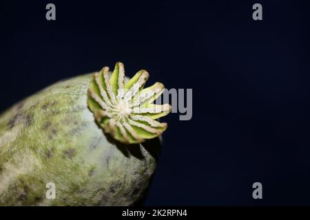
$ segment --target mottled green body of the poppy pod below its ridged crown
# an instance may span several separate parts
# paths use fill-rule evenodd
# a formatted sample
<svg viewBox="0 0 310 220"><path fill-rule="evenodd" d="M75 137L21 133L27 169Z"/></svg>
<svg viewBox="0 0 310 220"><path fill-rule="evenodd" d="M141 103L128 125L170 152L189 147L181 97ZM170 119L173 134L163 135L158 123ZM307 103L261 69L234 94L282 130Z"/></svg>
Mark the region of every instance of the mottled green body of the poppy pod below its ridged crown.
<svg viewBox="0 0 310 220"><path fill-rule="evenodd" d="M103 133L87 108L91 80L55 83L0 115L0 206L131 206L143 197L161 142L125 145Z"/></svg>

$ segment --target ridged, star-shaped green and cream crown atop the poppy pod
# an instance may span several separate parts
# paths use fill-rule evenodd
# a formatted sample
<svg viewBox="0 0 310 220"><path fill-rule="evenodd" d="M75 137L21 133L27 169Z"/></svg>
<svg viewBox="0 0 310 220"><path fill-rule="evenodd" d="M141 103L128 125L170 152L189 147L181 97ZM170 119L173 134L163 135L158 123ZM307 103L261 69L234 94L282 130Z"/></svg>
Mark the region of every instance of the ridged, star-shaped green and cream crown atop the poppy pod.
<svg viewBox="0 0 310 220"><path fill-rule="evenodd" d="M93 75L88 89L88 107L105 133L125 144L141 143L161 135L167 123L156 121L171 111L169 104L153 104L165 87L155 83L143 89L149 74L140 70L125 83L123 63Z"/></svg>

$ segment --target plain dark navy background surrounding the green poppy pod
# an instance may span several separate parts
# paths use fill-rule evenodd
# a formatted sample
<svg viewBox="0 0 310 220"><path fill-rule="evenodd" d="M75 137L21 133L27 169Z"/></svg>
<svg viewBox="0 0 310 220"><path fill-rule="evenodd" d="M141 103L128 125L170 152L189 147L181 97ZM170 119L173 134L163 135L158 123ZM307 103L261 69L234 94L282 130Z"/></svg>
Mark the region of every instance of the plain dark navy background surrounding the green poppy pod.
<svg viewBox="0 0 310 220"><path fill-rule="evenodd" d="M192 120L164 119L146 205L309 205L309 12L309 1L1 1L0 110L122 61L194 94Z"/></svg>

